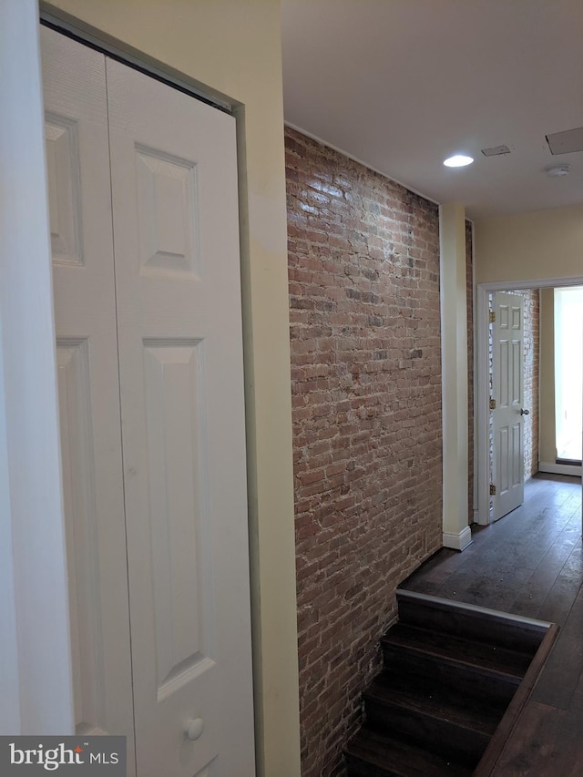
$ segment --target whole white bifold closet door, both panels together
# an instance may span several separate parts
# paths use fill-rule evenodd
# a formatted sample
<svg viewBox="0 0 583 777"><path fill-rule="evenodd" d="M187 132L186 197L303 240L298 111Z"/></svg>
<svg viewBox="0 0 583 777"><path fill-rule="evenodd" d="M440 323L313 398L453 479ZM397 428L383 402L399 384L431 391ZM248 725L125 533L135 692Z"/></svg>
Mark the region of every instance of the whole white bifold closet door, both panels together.
<svg viewBox="0 0 583 777"><path fill-rule="evenodd" d="M43 46L77 720L251 777L235 122Z"/></svg>

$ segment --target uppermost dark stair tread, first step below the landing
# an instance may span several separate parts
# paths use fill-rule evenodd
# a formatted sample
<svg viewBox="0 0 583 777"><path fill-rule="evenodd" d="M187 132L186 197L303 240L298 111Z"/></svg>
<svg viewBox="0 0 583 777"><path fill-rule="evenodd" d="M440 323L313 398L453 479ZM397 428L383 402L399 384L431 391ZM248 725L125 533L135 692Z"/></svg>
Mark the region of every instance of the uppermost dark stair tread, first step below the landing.
<svg viewBox="0 0 583 777"><path fill-rule="evenodd" d="M484 642L454 637L431 629L397 623L382 638L385 646L406 648L433 657L491 670L520 680L527 671L531 656L517 650L500 648Z"/></svg>

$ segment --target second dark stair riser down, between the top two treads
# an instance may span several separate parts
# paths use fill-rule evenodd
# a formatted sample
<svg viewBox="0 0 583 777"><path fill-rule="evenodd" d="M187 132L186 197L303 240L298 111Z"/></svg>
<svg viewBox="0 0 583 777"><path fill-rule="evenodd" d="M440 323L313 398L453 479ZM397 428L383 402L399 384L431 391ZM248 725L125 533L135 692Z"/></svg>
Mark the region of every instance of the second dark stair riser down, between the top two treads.
<svg viewBox="0 0 583 777"><path fill-rule="evenodd" d="M387 669L412 675L417 683L423 682L424 678L430 681L439 680L451 688L474 694L476 698L487 700L491 704L508 704L520 683L520 678L498 675L479 667L427 656L413 648L404 650L384 644L383 655Z"/></svg>

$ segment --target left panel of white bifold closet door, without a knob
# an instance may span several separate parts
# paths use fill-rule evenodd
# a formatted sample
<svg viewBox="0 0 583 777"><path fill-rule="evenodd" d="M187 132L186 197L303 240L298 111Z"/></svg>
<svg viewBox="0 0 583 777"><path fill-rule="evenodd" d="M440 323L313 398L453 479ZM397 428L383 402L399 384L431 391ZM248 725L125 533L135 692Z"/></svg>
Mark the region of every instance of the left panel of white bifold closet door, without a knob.
<svg viewBox="0 0 583 777"><path fill-rule="evenodd" d="M105 57L41 28L77 732L135 773Z"/></svg>

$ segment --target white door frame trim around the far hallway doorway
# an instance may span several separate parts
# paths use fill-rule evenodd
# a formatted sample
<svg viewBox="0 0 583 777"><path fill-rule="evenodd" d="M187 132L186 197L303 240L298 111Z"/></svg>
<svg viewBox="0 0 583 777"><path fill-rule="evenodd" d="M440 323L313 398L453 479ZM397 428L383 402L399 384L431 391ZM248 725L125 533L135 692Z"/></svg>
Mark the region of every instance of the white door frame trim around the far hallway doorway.
<svg viewBox="0 0 583 777"><path fill-rule="evenodd" d="M488 435L488 295L493 291L521 291L552 289L561 286L581 286L583 276L537 278L526 281L494 281L476 285L476 404L474 428L476 438L477 524L487 526L490 521L490 472Z"/></svg>

